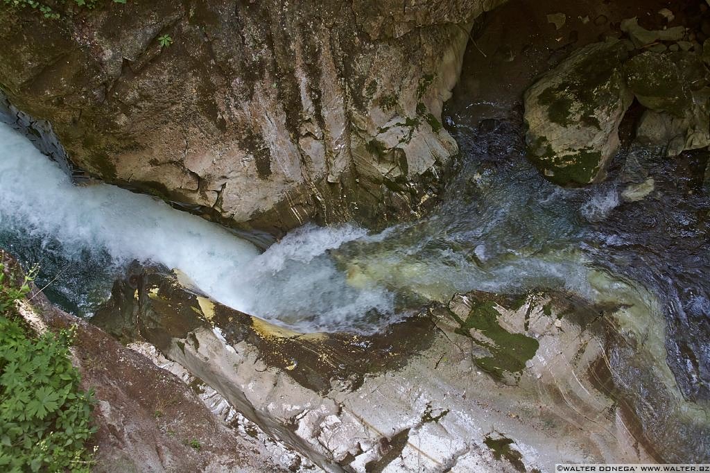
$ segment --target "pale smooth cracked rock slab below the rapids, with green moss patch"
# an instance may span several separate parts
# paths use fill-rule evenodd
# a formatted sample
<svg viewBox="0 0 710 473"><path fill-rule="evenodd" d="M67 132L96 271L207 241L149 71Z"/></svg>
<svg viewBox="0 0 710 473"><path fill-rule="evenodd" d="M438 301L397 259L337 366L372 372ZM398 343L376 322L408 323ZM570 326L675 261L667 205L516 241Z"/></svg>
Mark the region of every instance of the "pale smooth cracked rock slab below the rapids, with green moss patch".
<svg viewBox="0 0 710 473"><path fill-rule="evenodd" d="M329 472L643 463L688 458L674 451L691 445L679 439L704 435L700 424L673 420L677 400L652 370L639 374L662 342L647 337L647 353L620 335L626 307L606 312L562 293L469 293L379 335L300 334L206 304L173 276L116 284L95 322L154 344ZM652 399L634 394L649 386ZM648 402L669 414L650 419Z"/></svg>

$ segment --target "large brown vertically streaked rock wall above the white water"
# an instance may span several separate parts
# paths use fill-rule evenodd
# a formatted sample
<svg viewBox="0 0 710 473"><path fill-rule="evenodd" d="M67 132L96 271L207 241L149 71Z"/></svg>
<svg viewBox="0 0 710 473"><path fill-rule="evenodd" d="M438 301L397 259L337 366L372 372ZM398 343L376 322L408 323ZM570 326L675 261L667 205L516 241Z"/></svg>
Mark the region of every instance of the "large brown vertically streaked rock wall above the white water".
<svg viewBox="0 0 710 473"><path fill-rule="evenodd" d="M385 224L415 213L457 153L442 103L471 22L501 3L2 9L0 88L109 183L274 234Z"/></svg>

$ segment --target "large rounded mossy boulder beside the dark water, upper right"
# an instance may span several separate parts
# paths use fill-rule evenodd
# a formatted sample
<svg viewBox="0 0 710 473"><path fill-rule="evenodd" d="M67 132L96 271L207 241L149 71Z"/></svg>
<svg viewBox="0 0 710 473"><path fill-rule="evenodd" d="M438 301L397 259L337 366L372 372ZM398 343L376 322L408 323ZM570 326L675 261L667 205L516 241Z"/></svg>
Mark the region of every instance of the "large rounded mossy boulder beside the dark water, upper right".
<svg viewBox="0 0 710 473"><path fill-rule="evenodd" d="M548 180L583 185L604 177L633 99L621 69L627 56L621 41L587 45L525 92L528 156Z"/></svg>

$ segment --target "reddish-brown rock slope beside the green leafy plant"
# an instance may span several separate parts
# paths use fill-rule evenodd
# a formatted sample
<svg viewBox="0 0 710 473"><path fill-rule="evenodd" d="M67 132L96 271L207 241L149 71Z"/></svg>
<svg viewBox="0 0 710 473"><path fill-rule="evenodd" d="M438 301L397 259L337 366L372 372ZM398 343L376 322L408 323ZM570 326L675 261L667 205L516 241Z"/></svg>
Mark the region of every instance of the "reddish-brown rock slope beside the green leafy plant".
<svg viewBox="0 0 710 473"><path fill-rule="evenodd" d="M0 262L4 271L21 275L16 261L1 250ZM103 330L55 308L38 288L21 301L18 312L38 331L77 326L72 362L82 376L82 388L92 389L97 400L92 415L97 433L91 441L98 447L93 472L297 471L290 469L289 461L297 455L239 435L178 377Z"/></svg>

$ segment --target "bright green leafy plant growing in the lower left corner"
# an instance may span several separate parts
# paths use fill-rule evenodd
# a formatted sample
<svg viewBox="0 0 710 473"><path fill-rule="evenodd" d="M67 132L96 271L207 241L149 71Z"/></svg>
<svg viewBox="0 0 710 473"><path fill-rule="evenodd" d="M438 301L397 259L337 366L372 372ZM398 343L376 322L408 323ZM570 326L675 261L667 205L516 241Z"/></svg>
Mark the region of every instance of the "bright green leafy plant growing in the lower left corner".
<svg viewBox="0 0 710 473"><path fill-rule="evenodd" d="M70 359L77 327L35 335L21 323L33 276L16 286L0 263L0 471L88 472L94 401Z"/></svg>

